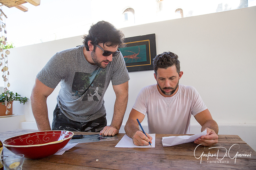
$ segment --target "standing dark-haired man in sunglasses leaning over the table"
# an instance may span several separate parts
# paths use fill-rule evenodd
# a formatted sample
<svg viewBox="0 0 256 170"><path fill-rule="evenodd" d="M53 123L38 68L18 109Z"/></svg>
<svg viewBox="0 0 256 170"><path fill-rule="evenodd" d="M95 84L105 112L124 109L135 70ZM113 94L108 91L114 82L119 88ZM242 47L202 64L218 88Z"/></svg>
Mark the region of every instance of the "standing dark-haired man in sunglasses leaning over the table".
<svg viewBox="0 0 256 170"><path fill-rule="evenodd" d="M99 21L83 38L82 46L56 53L37 74L31 94L33 115L40 131L51 130L46 99L61 82L52 130L114 136L122 125L128 101L130 78L118 49L124 46L124 34L112 24ZM116 102L107 126L103 97L110 80Z"/></svg>

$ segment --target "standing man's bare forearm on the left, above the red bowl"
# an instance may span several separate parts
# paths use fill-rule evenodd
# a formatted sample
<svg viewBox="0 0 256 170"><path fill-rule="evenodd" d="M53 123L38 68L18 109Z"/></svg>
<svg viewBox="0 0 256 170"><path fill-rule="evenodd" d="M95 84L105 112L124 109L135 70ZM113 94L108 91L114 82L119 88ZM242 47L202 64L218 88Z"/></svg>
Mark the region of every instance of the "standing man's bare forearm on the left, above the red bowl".
<svg viewBox="0 0 256 170"><path fill-rule="evenodd" d="M31 107L33 115L36 119L36 125L39 131L51 130L48 109L45 97L37 97L36 95L31 95Z"/></svg>

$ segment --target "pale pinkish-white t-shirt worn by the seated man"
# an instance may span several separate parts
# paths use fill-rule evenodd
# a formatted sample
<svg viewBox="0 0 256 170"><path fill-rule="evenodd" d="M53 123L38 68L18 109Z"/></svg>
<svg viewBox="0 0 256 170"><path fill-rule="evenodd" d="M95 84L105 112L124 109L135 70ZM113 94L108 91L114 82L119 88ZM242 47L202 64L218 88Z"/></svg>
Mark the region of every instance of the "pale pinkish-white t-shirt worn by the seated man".
<svg viewBox="0 0 256 170"><path fill-rule="evenodd" d="M156 84L146 86L132 108L148 114L148 133L156 134L189 134L191 114L207 109L196 89L182 84L172 97L162 96Z"/></svg>

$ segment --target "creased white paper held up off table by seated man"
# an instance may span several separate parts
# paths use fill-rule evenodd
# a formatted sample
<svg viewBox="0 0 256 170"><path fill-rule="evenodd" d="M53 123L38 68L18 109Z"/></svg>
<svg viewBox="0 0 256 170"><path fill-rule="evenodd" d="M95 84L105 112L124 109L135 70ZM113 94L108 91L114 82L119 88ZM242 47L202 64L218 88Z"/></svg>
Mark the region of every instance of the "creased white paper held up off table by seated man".
<svg viewBox="0 0 256 170"><path fill-rule="evenodd" d="M193 142L197 138L204 136L204 135L206 135L206 129L203 132L198 133L196 135L192 135L192 136L185 135L185 136L178 136L178 137L175 137L175 136L163 137L162 144L163 144L163 146L173 146L173 145L177 145L177 144L185 144L188 142Z"/></svg>

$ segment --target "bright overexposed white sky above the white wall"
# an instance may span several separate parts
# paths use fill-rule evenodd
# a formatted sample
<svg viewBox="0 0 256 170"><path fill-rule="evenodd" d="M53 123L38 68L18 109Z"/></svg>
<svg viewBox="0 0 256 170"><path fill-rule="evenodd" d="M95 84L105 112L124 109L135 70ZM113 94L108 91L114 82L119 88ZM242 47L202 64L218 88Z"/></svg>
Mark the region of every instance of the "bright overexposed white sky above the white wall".
<svg viewBox="0 0 256 170"><path fill-rule="evenodd" d="M23 4L23 6L28 8L27 12L23 12L15 7L8 8L2 6L0 8L8 17L5 19L7 42L12 42L15 47L21 47L87 34L92 23L96 23L98 19L102 20L100 18L116 22L117 19L115 18L117 16L115 16L114 12L118 11L122 14L122 10L124 9L120 8L123 8L122 5L124 6L124 4L127 7L133 6L137 8L136 14L138 16L138 11L142 11L141 6L143 5L141 4L143 4L144 1L145 0L129 0L129 2L127 0L41 0L41 4L38 6L29 3ZM198 11L198 9L205 10L207 8L205 7L205 1L193 1L198 1L198 4L201 5L204 3L204 7L200 8L198 8L198 4L197 6L195 5L196 11ZM209 4L234 3L235 1L239 4L240 0L211 0ZM153 3L152 0L148 2ZM163 1L165 4L172 2L192 6L191 0ZM156 3L155 0L154 3ZM136 7L134 4L138 4L139 7ZM248 6L255 5L256 0L248 0ZM214 10L215 8L216 7L214 7ZM165 13L162 14L166 16ZM161 15L158 15L156 18L160 18L160 16ZM140 22L149 23L150 17L148 21L146 19L145 15L143 15L140 17ZM136 18L136 20L138 21L139 19ZM151 20L153 20L152 16Z"/></svg>

